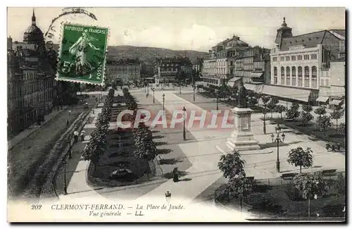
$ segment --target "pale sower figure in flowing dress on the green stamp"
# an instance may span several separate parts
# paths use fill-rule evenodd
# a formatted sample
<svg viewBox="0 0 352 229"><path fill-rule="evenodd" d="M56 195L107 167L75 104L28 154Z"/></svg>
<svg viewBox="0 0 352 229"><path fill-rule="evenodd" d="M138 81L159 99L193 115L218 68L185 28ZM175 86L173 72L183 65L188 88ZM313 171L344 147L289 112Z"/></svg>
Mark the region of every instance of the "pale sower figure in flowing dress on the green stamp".
<svg viewBox="0 0 352 229"><path fill-rule="evenodd" d="M70 54L75 56L76 72L79 75L84 75L84 73L93 69L93 66L87 60L88 48L91 47L94 50L100 50L92 44L93 41L96 41L96 39L89 36L88 30L84 30L82 37L78 38L77 42L69 49Z"/></svg>

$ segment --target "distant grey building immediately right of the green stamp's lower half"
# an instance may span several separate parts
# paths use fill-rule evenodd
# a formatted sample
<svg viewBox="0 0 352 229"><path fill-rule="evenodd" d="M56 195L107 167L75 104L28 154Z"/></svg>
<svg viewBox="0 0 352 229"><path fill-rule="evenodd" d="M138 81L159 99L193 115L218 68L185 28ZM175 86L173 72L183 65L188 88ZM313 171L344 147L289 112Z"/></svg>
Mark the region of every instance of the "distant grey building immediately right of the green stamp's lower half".
<svg viewBox="0 0 352 229"><path fill-rule="evenodd" d="M138 60L106 61L106 83L122 84L141 82L141 63Z"/></svg>

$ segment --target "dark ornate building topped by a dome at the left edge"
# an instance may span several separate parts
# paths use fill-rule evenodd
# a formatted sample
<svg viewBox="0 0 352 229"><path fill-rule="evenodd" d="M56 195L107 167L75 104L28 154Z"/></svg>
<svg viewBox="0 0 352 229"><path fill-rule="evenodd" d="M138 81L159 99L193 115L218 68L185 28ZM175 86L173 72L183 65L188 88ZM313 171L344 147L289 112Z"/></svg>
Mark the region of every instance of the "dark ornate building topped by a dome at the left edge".
<svg viewBox="0 0 352 229"><path fill-rule="evenodd" d="M50 113L56 96L54 69L49 65L42 30L32 15L23 42L8 38L8 136Z"/></svg>

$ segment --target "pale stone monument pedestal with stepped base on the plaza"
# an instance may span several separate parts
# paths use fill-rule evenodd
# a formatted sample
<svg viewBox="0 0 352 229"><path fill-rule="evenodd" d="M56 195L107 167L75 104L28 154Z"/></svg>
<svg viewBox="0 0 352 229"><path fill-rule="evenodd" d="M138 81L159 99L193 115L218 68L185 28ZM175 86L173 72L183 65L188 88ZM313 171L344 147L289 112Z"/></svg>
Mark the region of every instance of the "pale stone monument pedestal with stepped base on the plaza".
<svg viewBox="0 0 352 229"><path fill-rule="evenodd" d="M234 113L234 131L227 139L227 147L231 150L247 151L260 149L258 141L254 139L251 130L251 113L249 108L235 107L231 109Z"/></svg>

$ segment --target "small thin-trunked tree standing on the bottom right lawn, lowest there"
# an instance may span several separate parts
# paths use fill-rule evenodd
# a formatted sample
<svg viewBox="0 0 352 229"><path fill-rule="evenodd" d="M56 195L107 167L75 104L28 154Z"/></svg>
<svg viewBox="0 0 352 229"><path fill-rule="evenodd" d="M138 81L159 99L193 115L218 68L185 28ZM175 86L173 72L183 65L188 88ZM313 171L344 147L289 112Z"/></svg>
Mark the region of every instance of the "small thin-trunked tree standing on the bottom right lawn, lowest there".
<svg viewBox="0 0 352 229"><path fill-rule="evenodd" d="M326 182L321 172L299 173L294 176L295 187L308 200L308 217L310 217L310 199L317 199L326 193Z"/></svg>

